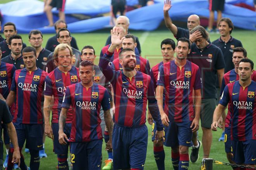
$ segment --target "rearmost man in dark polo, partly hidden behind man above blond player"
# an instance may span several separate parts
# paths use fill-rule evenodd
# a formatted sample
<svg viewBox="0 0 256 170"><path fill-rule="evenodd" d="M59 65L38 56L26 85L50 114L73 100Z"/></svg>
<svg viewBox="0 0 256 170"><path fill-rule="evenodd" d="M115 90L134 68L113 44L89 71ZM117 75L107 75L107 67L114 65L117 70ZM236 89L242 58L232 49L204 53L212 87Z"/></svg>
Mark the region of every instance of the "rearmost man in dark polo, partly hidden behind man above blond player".
<svg viewBox="0 0 256 170"><path fill-rule="evenodd" d="M46 43L45 49L48 49L49 51L53 52L55 47L59 45L60 43L57 41L57 34L60 29L67 28L67 23L64 20L57 20L54 24L54 28L56 31L56 35L53 37L50 37ZM78 49L78 46L76 44L76 39L72 37L72 40L70 42L71 47Z"/></svg>

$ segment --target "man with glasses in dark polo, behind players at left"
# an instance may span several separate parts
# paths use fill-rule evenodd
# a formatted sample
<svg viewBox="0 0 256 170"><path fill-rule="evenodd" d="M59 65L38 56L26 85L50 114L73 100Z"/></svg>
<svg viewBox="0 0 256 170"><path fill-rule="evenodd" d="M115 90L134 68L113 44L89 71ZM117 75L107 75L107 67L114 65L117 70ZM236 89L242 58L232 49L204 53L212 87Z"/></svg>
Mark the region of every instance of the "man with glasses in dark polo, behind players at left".
<svg viewBox="0 0 256 170"><path fill-rule="evenodd" d="M36 49L36 67L45 71L48 55L51 53L49 50L42 47L43 34L39 30L32 30L28 34L28 41L30 45Z"/></svg>

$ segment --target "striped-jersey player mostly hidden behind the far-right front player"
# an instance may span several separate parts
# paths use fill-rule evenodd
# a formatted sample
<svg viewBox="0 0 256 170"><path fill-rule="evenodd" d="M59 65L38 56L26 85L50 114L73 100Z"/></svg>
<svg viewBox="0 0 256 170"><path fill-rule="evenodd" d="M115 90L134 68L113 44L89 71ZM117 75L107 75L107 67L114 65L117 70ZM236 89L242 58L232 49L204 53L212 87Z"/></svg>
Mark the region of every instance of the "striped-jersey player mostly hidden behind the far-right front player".
<svg viewBox="0 0 256 170"><path fill-rule="evenodd" d="M246 49L242 48L242 47L236 47L233 48L233 57L232 57L232 61L234 63L235 68L233 70L228 71L227 73L225 73L225 75L223 76L222 79L222 85L221 85L221 93L223 93L223 90L225 88L225 86L229 83L233 83L236 80L239 80L239 75L238 75L238 66L239 66L239 62L241 61L241 59L247 58L247 51ZM253 81L256 81L256 71L253 71L253 74L251 76L251 79ZM228 107L230 107L230 105L228 104ZM220 117L220 122L221 122L221 118ZM225 142L225 151L227 153L227 159L230 163L235 163L234 161L232 161L232 151L231 151L231 136L230 136L230 118L231 118L231 112L230 110L228 110L226 119L225 119L225 137L224 137L224 142ZM223 124L223 123L222 123Z"/></svg>

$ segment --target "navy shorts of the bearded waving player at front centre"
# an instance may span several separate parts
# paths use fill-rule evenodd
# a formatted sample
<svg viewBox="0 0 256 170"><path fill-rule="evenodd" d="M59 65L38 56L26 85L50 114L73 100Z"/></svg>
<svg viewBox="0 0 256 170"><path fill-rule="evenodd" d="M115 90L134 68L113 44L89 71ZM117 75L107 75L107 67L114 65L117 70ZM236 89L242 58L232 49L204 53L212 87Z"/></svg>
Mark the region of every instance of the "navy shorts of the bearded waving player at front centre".
<svg viewBox="0 0 256 170"><path fill-rule="evenodd" d="M147 155L147 126L129 128L114 124L112 134L114 169L143 170Z"/></svg>

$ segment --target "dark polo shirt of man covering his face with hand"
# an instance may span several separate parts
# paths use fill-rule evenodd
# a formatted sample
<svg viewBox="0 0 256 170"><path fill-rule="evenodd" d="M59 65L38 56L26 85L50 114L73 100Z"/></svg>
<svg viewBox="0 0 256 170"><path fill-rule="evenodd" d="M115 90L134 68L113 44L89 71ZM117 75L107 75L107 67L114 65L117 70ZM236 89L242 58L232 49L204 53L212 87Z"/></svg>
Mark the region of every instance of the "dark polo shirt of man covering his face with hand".
<svg viewBox="0 0 256 170"><path fill-rule="evenodd" d="M191 45L188 60L199 66L202 77L202 98L211 99L216 96L217 70L225 68L225 61L220 48L209 42L203 50Z"/></svg>

